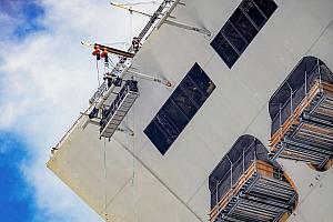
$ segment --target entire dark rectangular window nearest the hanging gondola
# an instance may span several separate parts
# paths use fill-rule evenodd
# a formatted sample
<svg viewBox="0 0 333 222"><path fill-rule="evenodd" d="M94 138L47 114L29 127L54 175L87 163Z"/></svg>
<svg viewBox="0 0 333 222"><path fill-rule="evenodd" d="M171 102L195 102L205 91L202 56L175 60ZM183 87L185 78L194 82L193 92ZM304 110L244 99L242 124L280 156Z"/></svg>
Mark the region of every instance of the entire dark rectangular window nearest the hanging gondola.
<svg viewBox="0 0 333 222"><path fill-rule="evenodd" d="M195 63L144 130L161 154L168 151L214 89L215 84Z"/></svg>

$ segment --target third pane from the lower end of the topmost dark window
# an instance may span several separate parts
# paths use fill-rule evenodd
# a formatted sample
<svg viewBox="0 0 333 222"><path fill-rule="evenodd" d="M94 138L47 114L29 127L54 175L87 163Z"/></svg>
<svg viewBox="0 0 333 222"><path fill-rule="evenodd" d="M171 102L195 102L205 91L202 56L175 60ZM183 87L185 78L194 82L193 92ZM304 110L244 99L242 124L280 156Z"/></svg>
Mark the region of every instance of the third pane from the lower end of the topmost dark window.
<svg viewBox="0 0 333 222"><path fill-rule="evenodd" d="M255 27L245 17L241 9L235 10L235 12L231 16L230 21L232 21L232 23L242 33L248 42L251 42L258 33Z"/></svg>

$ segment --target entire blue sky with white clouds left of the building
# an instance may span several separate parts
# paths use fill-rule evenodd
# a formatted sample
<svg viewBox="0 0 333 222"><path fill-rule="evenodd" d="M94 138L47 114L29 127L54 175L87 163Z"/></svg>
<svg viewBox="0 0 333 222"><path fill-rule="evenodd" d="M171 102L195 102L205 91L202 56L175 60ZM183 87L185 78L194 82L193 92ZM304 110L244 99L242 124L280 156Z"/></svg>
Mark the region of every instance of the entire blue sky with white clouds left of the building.
<svg viewBox="0 0 333 222"><path fill-rule="evenodd" d="M98 85L80 41L130 43L147 21L131 17L109 0L0 0L0 222L101 221L46 162Z"/></svg>

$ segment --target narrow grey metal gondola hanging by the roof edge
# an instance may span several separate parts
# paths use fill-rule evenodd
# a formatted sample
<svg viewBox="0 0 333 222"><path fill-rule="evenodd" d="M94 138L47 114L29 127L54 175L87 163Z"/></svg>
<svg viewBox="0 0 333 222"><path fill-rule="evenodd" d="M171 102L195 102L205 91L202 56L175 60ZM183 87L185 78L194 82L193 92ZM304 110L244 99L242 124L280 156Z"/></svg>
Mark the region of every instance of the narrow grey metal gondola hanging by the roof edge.
<svg viewBox="0 0 333 222"><path fill-rule="evenodd" d="M127 80L111 105L103 110L100 137L111 138L139 97L138 81Z"/></svg>

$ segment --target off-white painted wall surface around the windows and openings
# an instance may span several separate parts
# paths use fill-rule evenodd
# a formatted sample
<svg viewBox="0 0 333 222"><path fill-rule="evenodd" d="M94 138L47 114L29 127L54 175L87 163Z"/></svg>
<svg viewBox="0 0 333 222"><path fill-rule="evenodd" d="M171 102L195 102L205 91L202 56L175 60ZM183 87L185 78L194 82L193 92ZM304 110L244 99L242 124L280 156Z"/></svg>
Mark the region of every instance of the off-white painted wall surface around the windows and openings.
<svg viewBox="0 0 333 222"><path fill-rule="evenodd" d="M184 2L185 7L178 6L172 13L176 20L216 33L241 1ZM117 132L110 142L105 141L107 182L104 141L99 140L94 125L82 131L79 123L48 167L101 215L107 185L111 221L208 221L210 172L244 133L268 145L268 101L293 67L310 54L333 70L333 1L276 3L275 13L231 70L210 47L212 38L168 24L150 36L133 60L140 72L157 73L178 85L198 62L216 84L165 155L159 153L143 130L172 90L141 81L140 98L124 121L135 138ZM320 173L303 163L280 162L300 192L300 205L289 221L333 221L333 170Z"/></svg>

